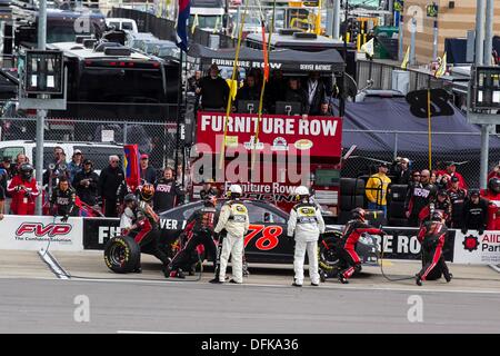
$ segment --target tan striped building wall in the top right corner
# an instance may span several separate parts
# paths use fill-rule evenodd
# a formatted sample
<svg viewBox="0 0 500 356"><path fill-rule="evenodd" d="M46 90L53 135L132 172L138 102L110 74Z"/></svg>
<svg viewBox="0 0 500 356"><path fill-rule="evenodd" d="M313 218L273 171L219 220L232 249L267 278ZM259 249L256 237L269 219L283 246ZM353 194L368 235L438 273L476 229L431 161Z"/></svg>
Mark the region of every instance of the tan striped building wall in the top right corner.
<svg viewBox="0 0 500 356"><path fill-rule="evenodd" d="M436 2L439 6L438 18L427 17L427 6ZM416 36L416 53L418 63L429 63L432 60L432 41L434 20L438 21L438 56L444 51L444 39L466 38L468 30L476 28L477 0L454 0L454 9L449 9L449 0L406 0L404 1L404 50L410 46L411 33L409 24L412 14L422 17L421 27ZM418 16L417 16L418 18ZM500 36L500 1L494 0L493 31Z"/></svg>

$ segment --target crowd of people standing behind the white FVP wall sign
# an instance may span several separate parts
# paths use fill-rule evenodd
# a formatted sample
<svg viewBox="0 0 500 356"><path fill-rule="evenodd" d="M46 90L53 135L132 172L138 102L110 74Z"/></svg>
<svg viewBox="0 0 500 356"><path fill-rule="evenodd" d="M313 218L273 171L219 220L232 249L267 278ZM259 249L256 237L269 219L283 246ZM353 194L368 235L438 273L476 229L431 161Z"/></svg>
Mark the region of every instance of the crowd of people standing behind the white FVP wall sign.
<svg viewBox="0 0 500 356"><path fill-rule="evenodd" d="M179 165L180 166L180 165ZM182 170L182 167L178 167ZM184 201L182 175L174 179L172 167L156 169L149 164L148 155L140 156L141 185L151 185L154 189L154 210L171 209ZM109 157L109 165L94 171L93 161L74 150L71 160L66 160L61 147L53 149L53 158L46 167L43 187L39 189L33 177L33 167L27 157L18 155L12 164L9 157L0 165L0 218L4 212L12 215L34 215L34 201L39 194L47 197L46 214L63 218L81 216L82 209L101 211L106 217L118 217L122 211L123 198L129 192L126 176L118 156ZM10 199L9 211L4 211L4 201ZM84 216L84 215L83 215Z"/></svg>

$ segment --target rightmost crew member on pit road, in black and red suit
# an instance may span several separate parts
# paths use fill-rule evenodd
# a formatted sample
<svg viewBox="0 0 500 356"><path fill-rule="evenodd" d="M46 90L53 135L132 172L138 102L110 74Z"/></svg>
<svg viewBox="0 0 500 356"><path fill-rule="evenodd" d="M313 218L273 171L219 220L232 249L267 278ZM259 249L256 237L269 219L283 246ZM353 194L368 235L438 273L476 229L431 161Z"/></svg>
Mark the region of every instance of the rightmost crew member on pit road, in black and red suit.
<svg viewBox="0 0 500 356"><path fill-rule="evenodd" d="M442 256L444 239L448 235L447 226L441 221L426 221L420 228L418 239L422 245L423 267L417 274L420 279L426 280L434 267L440 268L447 280L450 271Z"/></svg>

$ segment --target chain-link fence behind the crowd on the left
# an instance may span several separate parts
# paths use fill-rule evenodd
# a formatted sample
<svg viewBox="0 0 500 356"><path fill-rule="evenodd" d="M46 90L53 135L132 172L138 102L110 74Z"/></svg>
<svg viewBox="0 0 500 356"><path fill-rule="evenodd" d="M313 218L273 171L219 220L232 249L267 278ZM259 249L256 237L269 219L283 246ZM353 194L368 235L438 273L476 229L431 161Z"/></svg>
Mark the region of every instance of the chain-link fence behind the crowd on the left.
<svg viewBox="0 0 500 356"><path fill-rule="evenodd" d="M16 156L26 150L23 141L34 142L36 118L1 118L0 119L0 159ZM167 166L173 167L176 162L176 149L179 147L178 159L182 162L183 140L177 142L178 125L176 121L116 121L116 120L76 120L68 118L47 118L44 127L46 149L43 152L43 166L52 159L53 146L48 142L74 144L73 147L82 151L83 158L94 161L94 168L101 170L108 166L110 155L123 156L124 144L136 144L140 154L150 157L150 165L156 169ZM179 129L180 138L183 127ZM36 157L34 150L24 155ZM71 157L67 157L70 161Z"/></svg>

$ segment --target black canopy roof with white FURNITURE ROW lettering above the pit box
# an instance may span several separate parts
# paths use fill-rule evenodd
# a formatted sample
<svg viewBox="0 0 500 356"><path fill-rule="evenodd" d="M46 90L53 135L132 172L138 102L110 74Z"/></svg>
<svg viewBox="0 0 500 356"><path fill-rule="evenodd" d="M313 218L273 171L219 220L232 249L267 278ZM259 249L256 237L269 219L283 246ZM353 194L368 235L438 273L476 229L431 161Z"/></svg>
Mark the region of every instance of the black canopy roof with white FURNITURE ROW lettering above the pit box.
<svg viewBox="0 0 500 356"><path fill-rule="evenodd" d="M200 44L192 44L188 55L201 59L201 65L211 63L232 67L234 65L236 48L213 50ZM240 68L263 68L263 52L258 49L241 47L238 57ZM283 71L303 72L319 71L324 73L340 72L344 69L344 61L336 49L319 52L304 52L292 49L271 50L269 66Z"/></svg>

